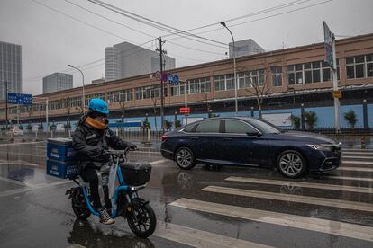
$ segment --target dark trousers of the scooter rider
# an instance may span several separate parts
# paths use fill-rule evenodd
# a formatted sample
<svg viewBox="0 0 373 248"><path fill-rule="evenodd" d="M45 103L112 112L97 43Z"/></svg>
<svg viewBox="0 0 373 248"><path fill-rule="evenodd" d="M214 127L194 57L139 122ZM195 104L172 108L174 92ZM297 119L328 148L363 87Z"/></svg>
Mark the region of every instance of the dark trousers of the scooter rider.
<svg viewBox="0 0 373 248"><path fill-rule="evenodd" d="M93 200L93 207L96 211L99 211L103 206L101 205L100 194L98 193L98 176L96 169L92 167L86 167L82 173L80 173L85 182L89 182L89 190L91 199ZM107 185L103 186L105 208L112 208L112 203L109 199L109 189Z"/></svg>

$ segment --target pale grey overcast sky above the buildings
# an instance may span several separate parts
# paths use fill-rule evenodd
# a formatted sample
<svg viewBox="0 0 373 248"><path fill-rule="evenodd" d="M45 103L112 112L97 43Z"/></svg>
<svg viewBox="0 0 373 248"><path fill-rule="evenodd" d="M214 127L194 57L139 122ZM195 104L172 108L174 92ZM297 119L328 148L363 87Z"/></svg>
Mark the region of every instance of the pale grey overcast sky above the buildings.
<svg viewBox="0 0 373 248"><path fill-rule="evenodd" d="M183 31L255 13L226 23L235 40L251 38L266 50L323 41L323 21L337 38L373 32L370 0L103 1ZM281 4L291 6L268 10ZM197 38L171 40L177 35L163 38L164 49L176 58L177 67L224 58L228 45L222 43L232 41L229 32L219 24L191 32L203 31L210 32L200 36L221 43L202 40L209 43L205 44L195 41ZM0 40L22 45L23 93L41 93L42 77L55 72L72 73L74 87L81 86L81 75L68 64L82 66L85 84L91 84L105 76L105 47L123 41L140 45L166 34L86 0L0 0ZM152 41L143 47L156 49L157 45Z"/></svg>

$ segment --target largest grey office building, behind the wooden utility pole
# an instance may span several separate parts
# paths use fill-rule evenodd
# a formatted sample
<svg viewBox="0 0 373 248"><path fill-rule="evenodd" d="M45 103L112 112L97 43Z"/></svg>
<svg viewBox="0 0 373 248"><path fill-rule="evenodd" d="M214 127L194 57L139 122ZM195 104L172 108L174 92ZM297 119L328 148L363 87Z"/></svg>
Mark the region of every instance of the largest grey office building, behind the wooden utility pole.
<svg viewBox="0 0 373 248"><path fill-rule="evenodd" d="M175 68L175 58L165 57L164 69ZM159 53L128 42L105 49L105 80L144 75L160 70Z"/></svg>

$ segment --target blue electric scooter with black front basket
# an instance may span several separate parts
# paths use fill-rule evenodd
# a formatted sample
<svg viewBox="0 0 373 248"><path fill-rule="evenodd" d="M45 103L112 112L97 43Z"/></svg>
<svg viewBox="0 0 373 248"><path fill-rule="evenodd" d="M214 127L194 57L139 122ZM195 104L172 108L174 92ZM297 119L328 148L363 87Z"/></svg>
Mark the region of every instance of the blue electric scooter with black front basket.
<svg viewBox="0 0 373 248"><path fill-rule="evenodd" d="M146 238L153 234L157 218L149 201L139 197L138 190L144 189L146 183L149 182L151 165L127 162L129 151L129 148L108 151L112 155L114 164L107 166L108 168L103 168L105 167L103 166L97 172L100 182L99 191L102 194L102 185L107 185L113 206L111 217L126 218L132 232L141 238ZM84 220L91 214L99 216L93 208L86 182L78 176L70 179L78 185L66 191L77 218ZM103 199L103 197L100 198Z"/></svg>

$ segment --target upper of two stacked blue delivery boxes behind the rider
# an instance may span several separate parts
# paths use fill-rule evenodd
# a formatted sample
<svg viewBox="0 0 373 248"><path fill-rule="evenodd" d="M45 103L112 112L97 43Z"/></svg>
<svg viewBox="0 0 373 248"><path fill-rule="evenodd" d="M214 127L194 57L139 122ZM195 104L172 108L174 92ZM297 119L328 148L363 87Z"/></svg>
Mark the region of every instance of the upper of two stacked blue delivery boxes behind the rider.
<svg viewBox="0 0 373 248"><path fill-rule="evenodd" d="M72 140L58 137L49 138L47 143L47 157L59 161L71 161L75 159L75 150Z"/></svg>

